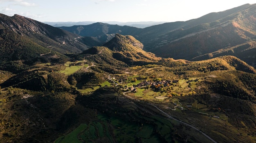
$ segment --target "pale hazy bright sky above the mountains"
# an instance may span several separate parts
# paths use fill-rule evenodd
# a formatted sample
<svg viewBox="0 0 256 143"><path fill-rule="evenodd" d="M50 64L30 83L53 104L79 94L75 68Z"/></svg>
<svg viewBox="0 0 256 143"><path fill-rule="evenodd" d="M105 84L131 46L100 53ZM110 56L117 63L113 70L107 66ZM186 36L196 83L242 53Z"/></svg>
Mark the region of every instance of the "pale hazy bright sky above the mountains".
<svg viewBox="0 0 256 143"><path fill-rule="evenodd" d="M255 0L0 0L0 13L40 22L186 21Z"/></svg>

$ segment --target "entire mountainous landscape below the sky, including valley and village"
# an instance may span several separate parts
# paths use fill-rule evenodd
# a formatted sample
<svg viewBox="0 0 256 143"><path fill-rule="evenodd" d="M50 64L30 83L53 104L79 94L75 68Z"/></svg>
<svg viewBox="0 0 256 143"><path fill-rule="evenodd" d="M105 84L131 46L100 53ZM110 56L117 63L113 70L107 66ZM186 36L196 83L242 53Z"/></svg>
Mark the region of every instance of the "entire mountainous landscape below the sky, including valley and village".
<svg viewBox="0 0 256 143"><path fill-rule="evenodd" d="M255 142L255 11L146 28L0 14L0 142Z"/></svg>

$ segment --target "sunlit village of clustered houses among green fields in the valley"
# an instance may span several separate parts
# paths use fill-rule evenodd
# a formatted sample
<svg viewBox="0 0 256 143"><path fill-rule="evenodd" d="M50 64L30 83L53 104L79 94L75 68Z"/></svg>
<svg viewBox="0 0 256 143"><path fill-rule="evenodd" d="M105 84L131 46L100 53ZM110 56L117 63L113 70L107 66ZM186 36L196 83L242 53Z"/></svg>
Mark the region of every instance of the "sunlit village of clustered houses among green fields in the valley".
<svg viewBox="0 0 256 143"><path fill-rule="evenodd" d="M137 80L138 78L138 80ZM155 100L158 101L165 101L167 98L170 97L175 97L175 96L180 96L179 94L173 94L173 87L177 87L180 88L180 80L162 80L161 78L155 78L155 79L141 79L139 78L139 76L135 78L132 77L129 80L117 80L115 77L111 77L109 76L109 82L112 82L115 84L115 86L119 86L121 87L122 91L124 91L124 94L127 93L132 93L130 95L128 95L128 97L130 97L131 99L136 99L133 96L135 96L135 94L140 94L139 92L141 92L141 90L150 90L151 93L156 93L156 96L151 96L151 98L154 98ZM189 82L198 82L198 78L196 79L186 79L185 82L189 83ZM182 81L180 81L182 82ZM183 81L184 82L184 81ZM166 95L166 93L168 93L169 95L166 97L164 95ZM197 110L195 108L193 108L192 104L182 104L181 101L179 100L171 100L172 98L170 98L168 101L173 104L173 108L167 107L166 109L171 109L173 111L176 110L176 108L178 108L180 111L183 110ZM205 107L202 107L205 108ZM202 109L201 108L201 109ZM213 118L220 118L219 115L209 115L208 113L203 113L203 112L198 112L201 115L207 115L208 117L213 117Z"/></svg>

